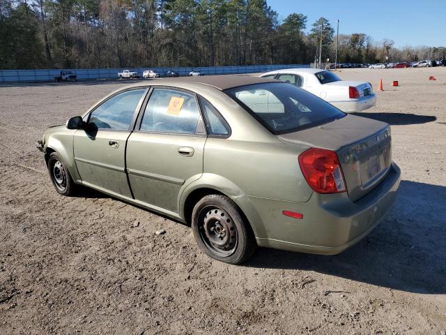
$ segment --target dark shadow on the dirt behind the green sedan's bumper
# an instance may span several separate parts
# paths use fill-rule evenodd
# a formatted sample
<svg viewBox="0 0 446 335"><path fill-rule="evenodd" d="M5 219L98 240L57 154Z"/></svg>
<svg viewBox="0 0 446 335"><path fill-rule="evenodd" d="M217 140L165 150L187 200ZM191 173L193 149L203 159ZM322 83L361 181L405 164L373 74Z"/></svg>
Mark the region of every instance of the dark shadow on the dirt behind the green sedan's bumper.
<svg viewBox="0 0 446 335"><path fill-rule="evenodd" d="M245 266L317 271L406 292L445 294L445 199L445 186L401 181L387 218L344 253L323 256L259 248Z"/></svg>

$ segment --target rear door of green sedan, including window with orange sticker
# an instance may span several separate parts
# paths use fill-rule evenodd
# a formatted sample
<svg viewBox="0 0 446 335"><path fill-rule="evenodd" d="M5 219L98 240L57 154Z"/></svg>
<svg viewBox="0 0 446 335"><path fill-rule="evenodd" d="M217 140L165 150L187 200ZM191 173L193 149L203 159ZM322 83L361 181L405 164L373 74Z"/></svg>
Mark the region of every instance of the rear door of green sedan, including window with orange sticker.
<svg viewBox="0 0 446 335"><path fill-rule="evenodd" d="M206 130L197 97L155 88L127 144L127 171L134 199L178 213L180 190L203 174Z"/></svg>

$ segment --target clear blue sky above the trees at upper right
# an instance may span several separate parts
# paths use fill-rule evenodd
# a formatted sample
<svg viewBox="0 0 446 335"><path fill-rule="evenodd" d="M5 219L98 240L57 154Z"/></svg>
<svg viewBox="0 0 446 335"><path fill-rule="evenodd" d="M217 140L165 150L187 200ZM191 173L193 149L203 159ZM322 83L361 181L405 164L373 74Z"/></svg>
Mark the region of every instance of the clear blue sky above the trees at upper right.
<svg viewBox="0 0 446 335"><path fill-rule="evenodd" d="M326 17L339 34L364 33L374 40L394 40L396 47L446 47L446 0L302 1L267 0L283 20L291 13L307 15L307 30ZM336 30L335 30L336 31Z"/></svg>

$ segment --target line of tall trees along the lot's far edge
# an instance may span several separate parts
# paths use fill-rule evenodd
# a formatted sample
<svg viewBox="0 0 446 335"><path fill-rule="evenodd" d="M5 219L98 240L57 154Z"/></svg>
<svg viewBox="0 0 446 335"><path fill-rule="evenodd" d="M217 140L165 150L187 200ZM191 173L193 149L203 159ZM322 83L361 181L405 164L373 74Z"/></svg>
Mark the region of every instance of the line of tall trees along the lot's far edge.
<svg viewBox="0 0 446 335"><path fill-rule="evenodd" d="M266 0L0 0L0 68L308 64L321 36L334 61L332 24L321 17L307 33L307 23L279 20ZM339 36L338 50L355 63L445 57L366 34Z"/></svg>

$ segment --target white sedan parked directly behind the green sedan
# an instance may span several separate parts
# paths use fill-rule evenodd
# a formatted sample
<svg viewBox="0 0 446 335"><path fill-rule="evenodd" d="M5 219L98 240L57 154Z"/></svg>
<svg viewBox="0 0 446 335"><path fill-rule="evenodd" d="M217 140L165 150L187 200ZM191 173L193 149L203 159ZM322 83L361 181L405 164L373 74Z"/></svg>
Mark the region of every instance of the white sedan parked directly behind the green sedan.
<svg viewBox="0 0 446 335"><path fill-rule="evenodd" d="M343 112L360 112L376 104L376 95L369 82L341 80L329 70L286 68L263 73L260 77L282 80L305 89Z"/></svg>

